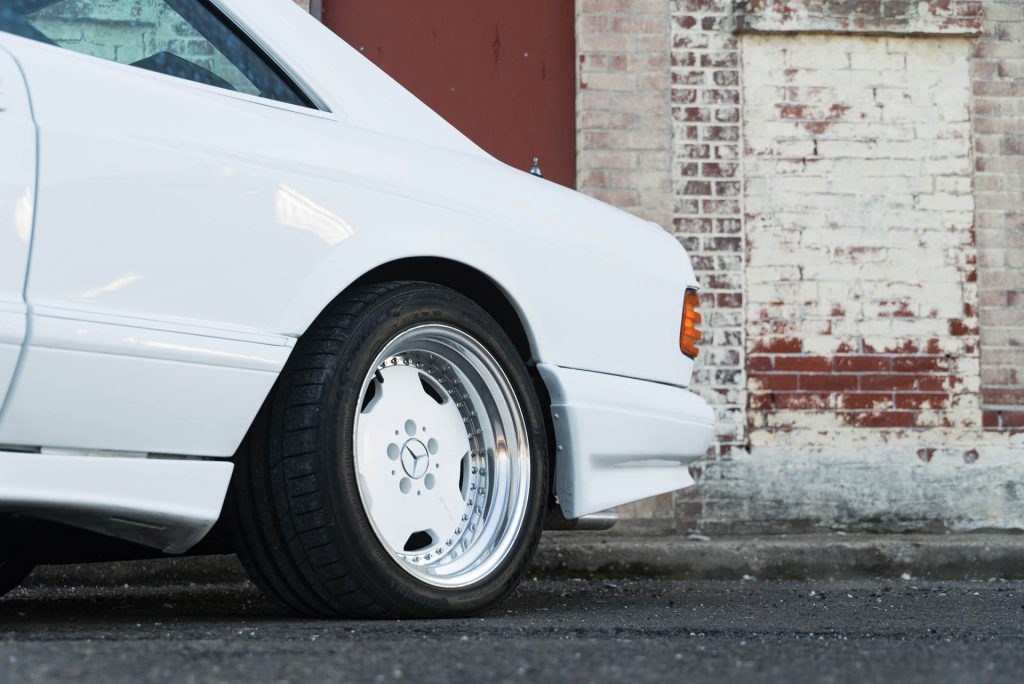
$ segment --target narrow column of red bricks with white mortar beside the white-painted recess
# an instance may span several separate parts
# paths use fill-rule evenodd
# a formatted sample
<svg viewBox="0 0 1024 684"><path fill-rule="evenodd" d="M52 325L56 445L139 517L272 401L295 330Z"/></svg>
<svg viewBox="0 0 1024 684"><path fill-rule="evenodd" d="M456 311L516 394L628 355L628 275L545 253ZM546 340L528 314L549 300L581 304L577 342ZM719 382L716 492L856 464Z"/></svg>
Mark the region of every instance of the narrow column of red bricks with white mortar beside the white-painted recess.
<svg viewBox="0 0 1024 684"><path fill-rule="evenodd" d="M715 407L718 439L709 458L717 460L746 442L739 44L729 30L730 0L673 0L671 9L671 229L703 288L708 344L693 387ZM680 526L694 526L707 505L700 489L675 500Z"/></svg>

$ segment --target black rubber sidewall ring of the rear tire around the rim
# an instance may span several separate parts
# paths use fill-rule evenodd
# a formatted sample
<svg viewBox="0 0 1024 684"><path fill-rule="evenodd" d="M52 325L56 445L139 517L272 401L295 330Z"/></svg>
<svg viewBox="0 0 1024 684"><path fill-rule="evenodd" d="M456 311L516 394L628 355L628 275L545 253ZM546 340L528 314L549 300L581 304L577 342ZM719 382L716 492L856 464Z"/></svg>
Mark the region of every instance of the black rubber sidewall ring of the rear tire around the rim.
<svg viewBox="0 0 1024 684"><path fill-rule="evenodd" d="M495 357L519 399L529 439L529 500L515 544L484 580L465 588L426 584L403 570L377 538L362 506L354 459L360 390L384 346L418 326L440 324L477 340ZM357 583L388 612L407 616L459 616L479 612L507 596L524 574L540 539L547 505L545 421L528 370L508 335L469 299L427 284L409 284L370 306L339 350L325 394L323 473L331 523Z"/></svg>

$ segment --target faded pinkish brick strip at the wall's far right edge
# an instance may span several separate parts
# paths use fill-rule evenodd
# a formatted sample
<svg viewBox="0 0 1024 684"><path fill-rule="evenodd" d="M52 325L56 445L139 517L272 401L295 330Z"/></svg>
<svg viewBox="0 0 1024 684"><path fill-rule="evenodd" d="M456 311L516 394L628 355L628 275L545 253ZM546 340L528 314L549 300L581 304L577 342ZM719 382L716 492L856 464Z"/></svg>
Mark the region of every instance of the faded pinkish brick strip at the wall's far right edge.
<svg viewBox="0 0 1024 684"><path fill-rule="evenodd" d="M1024 428L1024 2L989 0L974 48L983 420Z"/></svg>

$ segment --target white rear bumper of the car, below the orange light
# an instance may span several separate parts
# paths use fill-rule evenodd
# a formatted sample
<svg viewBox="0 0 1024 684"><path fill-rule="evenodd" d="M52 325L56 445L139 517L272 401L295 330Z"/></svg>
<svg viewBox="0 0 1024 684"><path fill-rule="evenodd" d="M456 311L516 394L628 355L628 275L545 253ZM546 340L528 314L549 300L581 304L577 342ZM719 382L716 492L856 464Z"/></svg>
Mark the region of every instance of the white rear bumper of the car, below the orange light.
<svg viewBox="0 0 1024 684"><path fill-rule="evenodd" d="M693 484L715 436L708 402L679 387L538 365L551 395L555 494L566 518Z"/></svg>

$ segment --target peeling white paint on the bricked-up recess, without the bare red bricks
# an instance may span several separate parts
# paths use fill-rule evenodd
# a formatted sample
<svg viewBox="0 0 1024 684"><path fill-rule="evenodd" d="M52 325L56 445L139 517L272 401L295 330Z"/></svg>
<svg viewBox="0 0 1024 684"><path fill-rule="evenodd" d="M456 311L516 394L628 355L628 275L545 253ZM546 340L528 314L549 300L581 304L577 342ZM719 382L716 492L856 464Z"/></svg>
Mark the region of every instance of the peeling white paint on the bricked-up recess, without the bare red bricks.
<svg viewBox="0 0 1024 684"><path fill-rule="evenodd" d="M974 210L968 43L746 36L743 59L744 69L757 65L758 74L781 74L801 87L829 84L829 99L820 98L821 90L799 110L784 109L787 90L779 97L778 88L744 89L744 198L753 219L746 223L749 350L772 336L797 339L805 353L826 357L841 346L941 349L973 359L964 366L970 374L977 337L949 335L950 320L959 322L976 296L968 262L955 256L971 250ZM814 63L813 74L804 73ZM802 69L786 72L793 65ZM941 98L933 95L938 78L952 84ZM798 120L781 121L783 114ZM791 281L799 288L787 288ZM796 313L780 312L775 302L796 293ZM955 392L948 387L916 399L919 425L977 425L976 401L948 399L977 381L977 373L968 375ZM761 382L752 375L749 389ZM785 428L772 437L783 444L811 433L822 439L823 427L846 425L833 415L840 396L815 395L808 405L817 410L752 417L762 426L752 442L772 426ZM844 447L837 435L826 441Z"/></svg>

